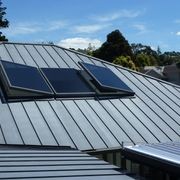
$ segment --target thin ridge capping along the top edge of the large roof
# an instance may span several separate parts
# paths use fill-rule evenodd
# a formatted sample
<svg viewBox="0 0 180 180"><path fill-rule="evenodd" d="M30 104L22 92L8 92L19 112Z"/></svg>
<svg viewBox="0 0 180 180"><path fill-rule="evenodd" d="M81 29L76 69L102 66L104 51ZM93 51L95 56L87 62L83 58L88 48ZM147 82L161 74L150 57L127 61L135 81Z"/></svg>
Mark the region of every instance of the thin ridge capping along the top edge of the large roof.
<svg viewBox="0 0 180 180"><path fill-rule="evenodd" d="M67 51L71 51L71 52L76 53L76 54L79 54L79 55L86 56L86 57L88 57L88 58L93 58L93 59L95 59L95 60L97 60L97 61L99 61L99 62L102 62L102 63L108 64L108 65L114 66L114 67L116 67L116 68L121 68L121 69L124 69L124 70L126 70L126 71L129 71L129 72L132 72L132 73L135 73L135 74L138 74L138 75L141 75L141 76L150 78L150 79L154 79L154 80L156 80L156 81L159 81L159 82L162 82L162 83L165 83L165 84L168 84L168 85L171 85L171 86L173 86L173 87L180 88L180 85L176 85L176 84L173 84L173 83L170 83L170 82L167 82L167 81L164 81L164 80L161 80L161 79L158 79L158 78L149 76L149 75L147 75L147 74L143 74L143 73L140 73L140 72L131 70L131 69L129 69L129 68L126 68L126 67L123 67L123 66L120 66L120 65L116 65L116 64L107 62L107 61L105 61L105 60L102 60L102 59L99 59L99 58L96 58L96 57L93 57L93 56L90 56L90 55L87 55L87 54L83 54L83 53L78 52L78 51L76 51L76 50L68 49L68 48L65 48L65 47L62 47L62 46L58 46L58 45L55 45L55 44L26 43L26 42L22 42L22 43L21 43L21 42L0 42L0 45L1 45L1 44L54 46L54 47L61 48L61 49L67 50Z"/></svg>

